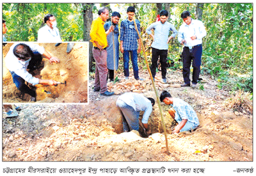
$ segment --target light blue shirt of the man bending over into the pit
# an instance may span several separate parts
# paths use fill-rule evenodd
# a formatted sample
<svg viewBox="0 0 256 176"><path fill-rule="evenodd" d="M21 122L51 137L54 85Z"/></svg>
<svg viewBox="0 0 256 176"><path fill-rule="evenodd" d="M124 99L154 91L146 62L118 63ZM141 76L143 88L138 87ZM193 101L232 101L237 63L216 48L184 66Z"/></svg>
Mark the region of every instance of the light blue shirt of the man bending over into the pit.
<svg viewBox="0 0 256 176"><path fill-rule="evenodd" d="M136 111L144 111L141 122L143 122L143 124L147 124L148 117L153 110L151 101L148 98L145 98L145 96L138 93L127 92L119 96L118 99L121 99L127 105L132 106Z"/></svg>

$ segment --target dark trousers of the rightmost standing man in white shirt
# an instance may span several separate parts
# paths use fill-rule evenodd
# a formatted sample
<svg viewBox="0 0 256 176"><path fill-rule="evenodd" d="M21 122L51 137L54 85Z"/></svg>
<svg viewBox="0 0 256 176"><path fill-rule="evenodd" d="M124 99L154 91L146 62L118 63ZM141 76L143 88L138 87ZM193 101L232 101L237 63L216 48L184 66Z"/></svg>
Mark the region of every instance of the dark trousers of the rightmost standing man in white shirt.
<svg viewBox="0 0 256 176"><path fill-rule="evenodd" d="M193 66L193 75L192 83L197 84L197 80L200 75L200 66L201 66L201 57L202 57L202 45L198 45L195 48L189 50L188 47L183 48L183 78L185 84L190 84L190 66L192 62Z"/></svg>

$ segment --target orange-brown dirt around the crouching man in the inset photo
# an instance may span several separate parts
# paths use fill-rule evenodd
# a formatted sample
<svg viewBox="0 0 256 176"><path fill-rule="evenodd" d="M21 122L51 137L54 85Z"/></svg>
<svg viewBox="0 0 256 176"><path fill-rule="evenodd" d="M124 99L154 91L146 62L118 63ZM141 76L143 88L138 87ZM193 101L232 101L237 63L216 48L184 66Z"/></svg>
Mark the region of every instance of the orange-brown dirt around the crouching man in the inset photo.
<svg viewBox="0 0 256 176"><path fill-rule="evenodd" d="M35 85L36 103L87 103L88 102L88 43L76 43L70 53L67 53L67 43L37 43L52 56L58 57L60 63L51 64L43 59L38 70L33 71L33 77L52 79L57 82L67 82L58 86ZM22 95L12 80L10 71L5 66L5 56L13 43L3 47L3 103L28 103L30 96ZM31 85L29 85L31 86ZM45 91L51 92L47 94Z"/></svg>

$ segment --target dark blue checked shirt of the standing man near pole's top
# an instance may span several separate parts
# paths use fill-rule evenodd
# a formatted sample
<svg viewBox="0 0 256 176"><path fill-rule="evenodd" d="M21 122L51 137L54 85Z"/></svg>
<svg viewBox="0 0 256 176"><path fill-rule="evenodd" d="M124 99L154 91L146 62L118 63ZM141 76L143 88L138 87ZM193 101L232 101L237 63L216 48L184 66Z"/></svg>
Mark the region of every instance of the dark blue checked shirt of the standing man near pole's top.
<svg viewBox="0 0 256 176"><path fill-rule="evenodd" d="M140 22L136 20L137 28L140 33ZM139 36L134 27L133 20L130 22L128 19L122 20L120 26L120 41L123 41L124 50L137 50Z"/></svg>

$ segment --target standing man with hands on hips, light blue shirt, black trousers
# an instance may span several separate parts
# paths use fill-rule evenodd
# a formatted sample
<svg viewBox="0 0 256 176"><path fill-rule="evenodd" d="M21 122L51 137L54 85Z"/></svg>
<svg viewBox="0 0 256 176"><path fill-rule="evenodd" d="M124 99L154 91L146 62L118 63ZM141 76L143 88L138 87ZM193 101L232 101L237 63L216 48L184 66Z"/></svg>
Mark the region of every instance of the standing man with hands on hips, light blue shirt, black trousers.
<svg viewBox="0 0 256 176"><path fill-rule="evenodd" d="M175 27L170 24L170 22L166 22L167 19L168 11L161 10L160 21L154 22L146 29L147 33L150 34L150 36L153 38L153 43L151 45L152 65L150 70L153 78L155 78L157 61L160 56L162 78L164 83L166 83L166 58L168 52L168 43L170 40L172 40L172 38L175 38L177 34ZM152 34L152 29L154 29L154 34ZM173 34L168 38L170 31L173 31Z"/></svg>

